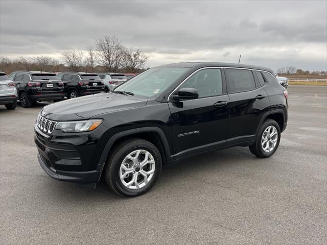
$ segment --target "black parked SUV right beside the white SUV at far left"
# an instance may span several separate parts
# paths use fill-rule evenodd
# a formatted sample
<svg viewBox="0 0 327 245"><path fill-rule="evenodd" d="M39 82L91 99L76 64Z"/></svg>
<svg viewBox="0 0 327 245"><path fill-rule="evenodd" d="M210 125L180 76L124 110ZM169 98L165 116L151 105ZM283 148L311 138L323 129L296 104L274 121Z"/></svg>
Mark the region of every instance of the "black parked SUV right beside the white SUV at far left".
<svg viewBox="0 0 327 245"><path fill-rule="evenodd" d="M14 71L10 74L22 107L31 107L36 101L56 101L64 98L63 82L55 73L43 71Z"/></svg>

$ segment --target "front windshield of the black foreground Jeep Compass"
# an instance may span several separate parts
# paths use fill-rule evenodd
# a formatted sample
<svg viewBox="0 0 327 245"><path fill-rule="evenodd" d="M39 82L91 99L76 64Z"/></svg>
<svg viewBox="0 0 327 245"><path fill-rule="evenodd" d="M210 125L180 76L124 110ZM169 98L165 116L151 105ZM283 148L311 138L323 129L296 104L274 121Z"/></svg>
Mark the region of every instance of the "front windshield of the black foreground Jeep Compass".
<svg viewBox="0 0 327 245"><path fill-rule="evenodd" d="M155 97L189 69L185 67L151 68L117 87L114 92L127 91L135 95Z"/></svg>

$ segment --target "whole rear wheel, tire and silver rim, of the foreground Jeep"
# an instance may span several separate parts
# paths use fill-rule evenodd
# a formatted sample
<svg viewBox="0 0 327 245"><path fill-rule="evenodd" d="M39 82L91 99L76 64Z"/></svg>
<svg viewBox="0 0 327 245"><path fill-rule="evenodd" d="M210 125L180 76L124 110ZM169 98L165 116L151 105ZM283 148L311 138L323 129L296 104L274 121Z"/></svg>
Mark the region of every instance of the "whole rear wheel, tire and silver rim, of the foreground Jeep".
<svg viewBox="0 0 327 245"><path fill-rule="evenodd" d="M272 156L281 140L281 129L275 120L264 121L258 137L253 145L249 146L251 153L260 158Z"/></svg>

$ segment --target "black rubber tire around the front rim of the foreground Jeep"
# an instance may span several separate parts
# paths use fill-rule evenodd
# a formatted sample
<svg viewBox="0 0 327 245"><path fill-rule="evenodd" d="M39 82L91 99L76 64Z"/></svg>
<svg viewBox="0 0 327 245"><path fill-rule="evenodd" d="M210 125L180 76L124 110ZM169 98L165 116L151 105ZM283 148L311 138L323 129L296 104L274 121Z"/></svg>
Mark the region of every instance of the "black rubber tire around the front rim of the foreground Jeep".
<svg viewBox="0 0 327 245"><path fill-rule="evenodd" d="M155 168L152 179L142 188L129 189L120 180L120 167L125 157L133 151L146 150L154 158ZM116 145L111 152L104 170L107 185L116 193L124 197L136 197L149 191L156 183L161 173L161 155L154 144L144 139L128 139Z"/></svg>

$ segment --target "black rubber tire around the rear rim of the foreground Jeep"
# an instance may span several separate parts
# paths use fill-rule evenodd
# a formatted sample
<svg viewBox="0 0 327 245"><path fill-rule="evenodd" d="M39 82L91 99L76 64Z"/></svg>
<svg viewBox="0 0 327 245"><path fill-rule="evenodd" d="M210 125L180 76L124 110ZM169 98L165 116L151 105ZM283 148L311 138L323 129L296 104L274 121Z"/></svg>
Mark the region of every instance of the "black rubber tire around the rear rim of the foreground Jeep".
<svg viewBox="0 0 327 245"><path fill-rule="evenodd" d="M262 141L262 136L263 136L264 131L269 126L273 126L273 127L276 128L278 138L277 138L276 145L274 146L273 150L270 151L270 152L265 152L261 141ZM260 158L270 157L277 150L280 140L281 140L281 128L279 128L278 123L275 120L267 119L267 120L264 121L263 125L261 126L258 137L256 137L255 143L253 145L249 146L250 152L253 155L255 155L257 157L260 157Z"/></svg>

